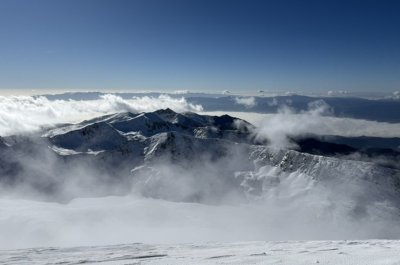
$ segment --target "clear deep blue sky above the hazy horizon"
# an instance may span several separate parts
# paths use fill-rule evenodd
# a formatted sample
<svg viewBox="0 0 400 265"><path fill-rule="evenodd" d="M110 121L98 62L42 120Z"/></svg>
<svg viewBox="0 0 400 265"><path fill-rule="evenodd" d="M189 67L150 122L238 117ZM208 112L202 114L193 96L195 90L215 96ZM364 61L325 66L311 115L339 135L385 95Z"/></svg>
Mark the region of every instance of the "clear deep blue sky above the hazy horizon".
<svg viewBox="0 0 400 265"><path fill-rule="evenodd" d="M0 0L0 89L395 91L400 1Z"/></svg>

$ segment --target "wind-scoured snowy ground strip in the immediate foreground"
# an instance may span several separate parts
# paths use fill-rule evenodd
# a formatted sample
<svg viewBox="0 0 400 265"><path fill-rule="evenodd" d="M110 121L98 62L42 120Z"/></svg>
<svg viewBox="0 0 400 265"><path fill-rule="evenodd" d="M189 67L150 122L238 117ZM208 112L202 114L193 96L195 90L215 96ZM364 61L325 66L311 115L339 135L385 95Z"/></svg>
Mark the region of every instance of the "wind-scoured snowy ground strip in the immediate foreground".
<svg viewBox="0 0 400 265"><path fill-rule="evenodd" d="M270 241L0 251L3 264L400 264L400 241Z"/></svg>

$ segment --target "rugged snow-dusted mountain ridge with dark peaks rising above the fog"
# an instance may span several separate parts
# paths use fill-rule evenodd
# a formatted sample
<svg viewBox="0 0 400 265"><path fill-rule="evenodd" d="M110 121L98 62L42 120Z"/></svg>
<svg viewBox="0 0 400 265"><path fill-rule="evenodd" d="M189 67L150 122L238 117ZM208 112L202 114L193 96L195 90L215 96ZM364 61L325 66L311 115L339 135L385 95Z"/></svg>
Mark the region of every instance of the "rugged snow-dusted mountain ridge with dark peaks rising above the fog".
<svg viewBox="0 0 400 265"><path fill-rule="evenodd" d="M256 140L254 129L228 115L165 109L60 125L41 136L5 137L0 139L2 186L23 185L61 200L134 191L203 203L272 194L302 197L326 189L335 198L351 197L353 208L367 201L400 208L399 170L331 154L276 150L265 145L268 139ZM71 182L74 188L66 189Z"/></svg>

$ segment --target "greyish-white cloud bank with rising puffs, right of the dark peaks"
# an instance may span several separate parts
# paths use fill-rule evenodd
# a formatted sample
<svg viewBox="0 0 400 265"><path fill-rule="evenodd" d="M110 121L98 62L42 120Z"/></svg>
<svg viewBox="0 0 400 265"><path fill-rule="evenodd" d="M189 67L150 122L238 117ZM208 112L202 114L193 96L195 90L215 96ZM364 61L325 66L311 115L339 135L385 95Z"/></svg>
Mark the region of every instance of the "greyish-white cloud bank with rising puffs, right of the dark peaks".
<svg viewBox="0 0 400 265"><path fill-rule="evenodd" d="M289 137L304 134L339 136L398 137L400 124L331 116L333 109L322 100L309 104L307 111L296 113L284 106L277 114L258 117L257 137L267 138L276 148L293 148Z"/></svg>

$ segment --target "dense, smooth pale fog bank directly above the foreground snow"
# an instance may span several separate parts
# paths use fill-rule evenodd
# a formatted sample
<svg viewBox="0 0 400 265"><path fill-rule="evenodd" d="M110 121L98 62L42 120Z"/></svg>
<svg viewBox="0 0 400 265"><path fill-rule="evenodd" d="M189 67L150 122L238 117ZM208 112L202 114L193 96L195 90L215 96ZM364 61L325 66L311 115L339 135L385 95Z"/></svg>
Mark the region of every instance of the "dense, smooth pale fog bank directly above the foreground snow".
<svg viewBox="0 0 400 265"><path fill-rule="evenodd" d="M7 240L0 240L0 248L400 235L394 219L355 222L340 212L316 216L316 209L332 203L326 200L271 203L276 202L215 206L133 196L75 199L68 204L1 199L0 232Z"/></svg>

